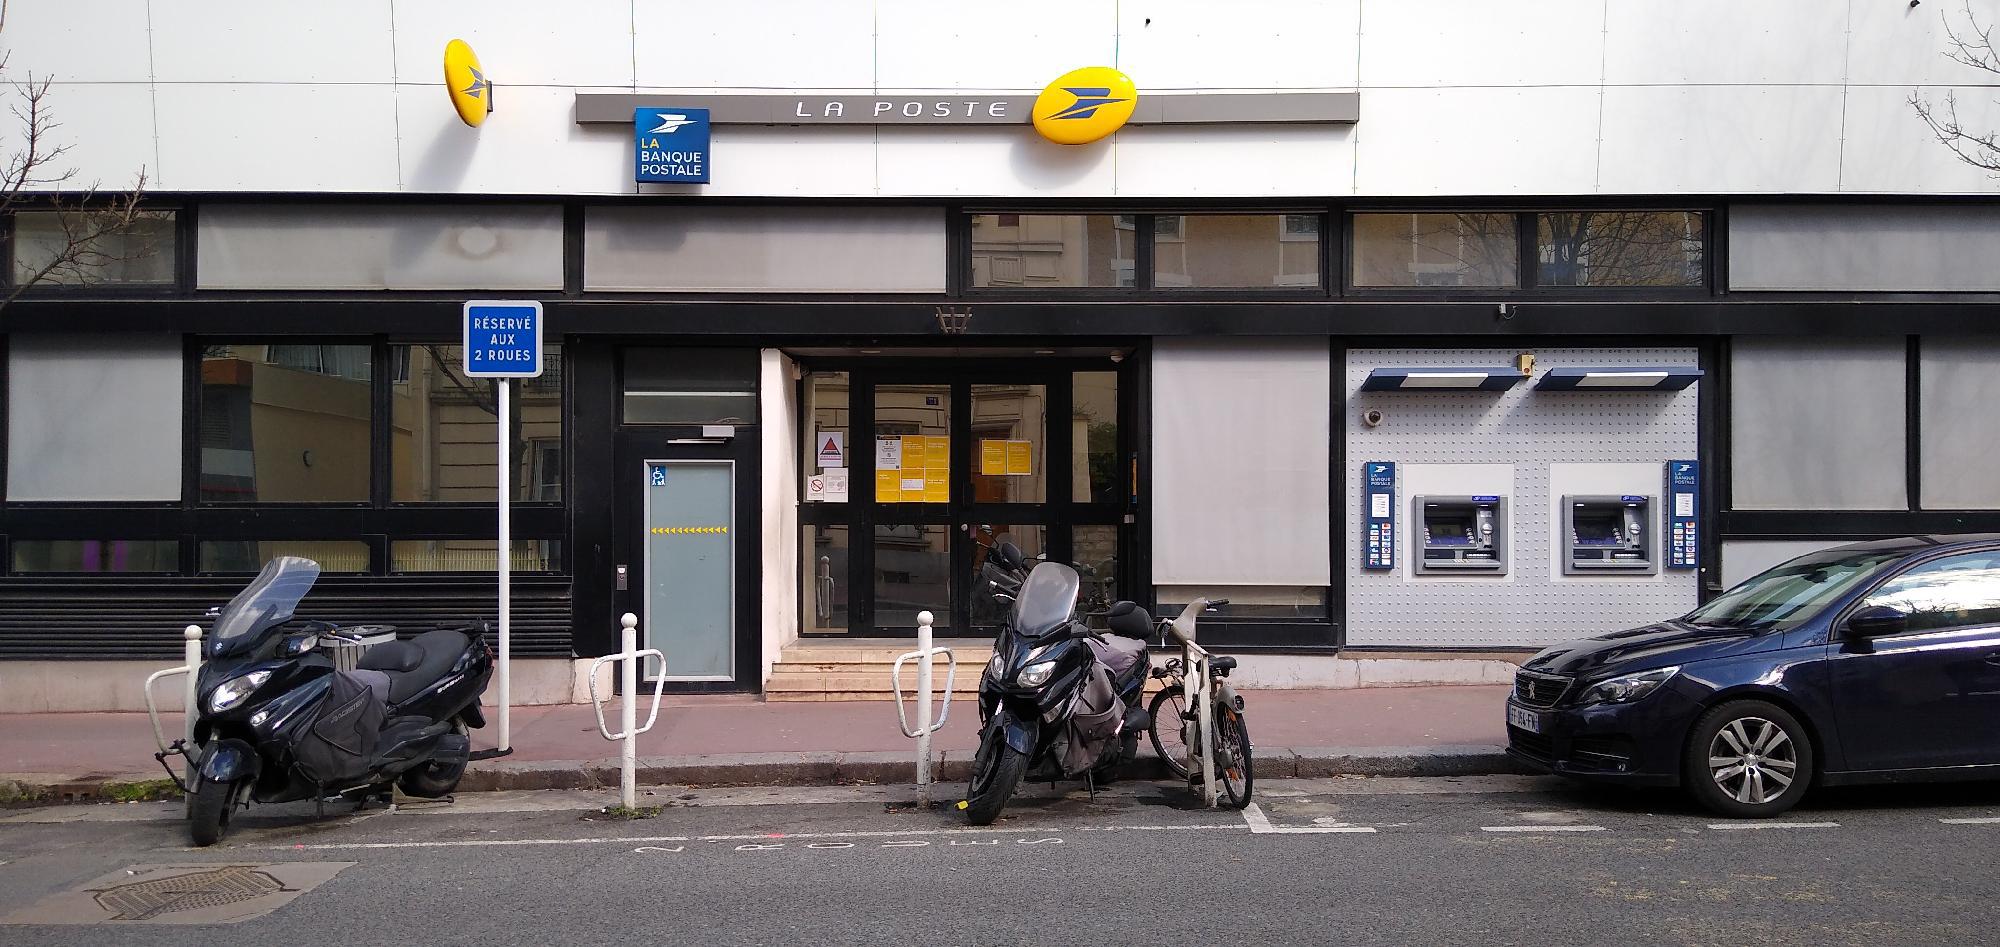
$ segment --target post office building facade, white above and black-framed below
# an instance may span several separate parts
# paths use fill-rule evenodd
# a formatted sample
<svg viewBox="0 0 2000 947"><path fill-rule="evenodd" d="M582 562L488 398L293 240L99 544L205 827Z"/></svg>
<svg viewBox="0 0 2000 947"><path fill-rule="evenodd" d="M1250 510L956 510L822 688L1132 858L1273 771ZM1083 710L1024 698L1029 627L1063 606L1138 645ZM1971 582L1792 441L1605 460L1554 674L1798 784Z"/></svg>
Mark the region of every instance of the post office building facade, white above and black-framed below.
<svg viewBox="0 0 2000 947"><path fill-rule="evenodd" d="M1230 597L1204 629L1282 681L2000 529L2000 204L1910 100L2000 112L1942 24L16 4L70 196L144 168L148 216L0 310L0 689L132 707L124 663L284 553L326 569L314 617L492 613L502 436L526 699L622 611L690 691L924 609L990 633L998 541L1088 607ZM1044 140L1026 102L1080 66L1138 112ZM708 110L706 184L636 180L648 108ZM16 206L10 280L60 222ZM540 378L462 374L486 298L542 302ZM70 693L80 661L118 673Z"/></svg>

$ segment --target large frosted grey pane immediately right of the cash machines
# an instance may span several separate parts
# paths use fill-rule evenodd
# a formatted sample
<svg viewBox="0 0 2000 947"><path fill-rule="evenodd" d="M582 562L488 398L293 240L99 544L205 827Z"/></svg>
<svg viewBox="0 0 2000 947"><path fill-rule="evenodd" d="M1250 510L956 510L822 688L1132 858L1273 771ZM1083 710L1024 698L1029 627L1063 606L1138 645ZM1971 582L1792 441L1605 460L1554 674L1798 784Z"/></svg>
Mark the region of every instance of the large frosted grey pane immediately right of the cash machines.
<svg viewBox="0 0 2000 947"><path fill-rule="evenodd" d="M1730 348L1736 509L1906 509L1902 338Z"/></svg>

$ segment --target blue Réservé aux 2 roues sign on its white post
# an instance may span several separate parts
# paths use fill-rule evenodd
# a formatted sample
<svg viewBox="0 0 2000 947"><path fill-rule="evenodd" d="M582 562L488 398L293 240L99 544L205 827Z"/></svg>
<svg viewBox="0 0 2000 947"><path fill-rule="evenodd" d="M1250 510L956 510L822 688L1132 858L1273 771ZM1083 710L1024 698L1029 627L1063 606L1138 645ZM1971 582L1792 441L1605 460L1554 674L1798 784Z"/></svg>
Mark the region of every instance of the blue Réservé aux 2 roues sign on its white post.
<svg viewBox="0 0 2000 947"><path fill-rule="evenodd" d="M514 380L542 374L542 304L534 300L466 300L466 378L494 380L498 444L498 541L494 559L500 579L500 751L514 749L514 521L510 493L514 481Z"/></svg>

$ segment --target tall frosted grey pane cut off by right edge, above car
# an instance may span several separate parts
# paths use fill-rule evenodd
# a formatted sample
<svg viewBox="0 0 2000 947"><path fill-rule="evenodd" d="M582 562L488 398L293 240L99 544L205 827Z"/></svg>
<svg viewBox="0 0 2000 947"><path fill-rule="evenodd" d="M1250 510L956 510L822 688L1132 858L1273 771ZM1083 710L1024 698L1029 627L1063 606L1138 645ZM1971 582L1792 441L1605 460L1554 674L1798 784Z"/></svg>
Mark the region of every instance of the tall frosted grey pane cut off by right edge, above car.
<svg viewBox="0 0 2000 947"><path fill-rule="evenodd" d="M1924 509L2000 507L2000 336L1924 338Z"/></svg>

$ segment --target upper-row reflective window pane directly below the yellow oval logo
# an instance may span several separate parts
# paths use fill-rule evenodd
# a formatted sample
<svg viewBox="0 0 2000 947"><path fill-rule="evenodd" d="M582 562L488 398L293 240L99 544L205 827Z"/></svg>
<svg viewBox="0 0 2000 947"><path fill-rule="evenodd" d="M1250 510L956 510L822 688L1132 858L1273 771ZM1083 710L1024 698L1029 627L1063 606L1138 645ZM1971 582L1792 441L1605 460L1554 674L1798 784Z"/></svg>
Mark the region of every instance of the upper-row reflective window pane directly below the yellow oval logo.
<svg viewBox="0 0 2000 947"><path fill-rule="evenodd" d="M1130 216L974 214L972 286L1132 286Z"/></svg>

